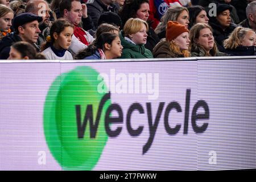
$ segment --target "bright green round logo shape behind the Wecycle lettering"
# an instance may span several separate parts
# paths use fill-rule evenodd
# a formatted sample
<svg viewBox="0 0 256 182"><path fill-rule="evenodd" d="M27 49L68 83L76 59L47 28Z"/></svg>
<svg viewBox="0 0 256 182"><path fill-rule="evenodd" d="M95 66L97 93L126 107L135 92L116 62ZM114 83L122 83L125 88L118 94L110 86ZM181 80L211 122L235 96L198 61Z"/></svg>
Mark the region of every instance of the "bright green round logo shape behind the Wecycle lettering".
<svg viewBox="0 0 256 182"><path fill-rule="evenodd" d="M63 169L92 170L108 141L104 115L110 100L102 107L96 135L90 136L90 125L95 124L100 101L104 97L104 93L97 91L98 84L102 82L98 80L98 75L90 67L77 67L58 76L47 93L44 135L51 154ZM88 113L90 117L85 117ZM90 123L90 119L93 123ZM79 137L81 126L84 133Z"/></svg>

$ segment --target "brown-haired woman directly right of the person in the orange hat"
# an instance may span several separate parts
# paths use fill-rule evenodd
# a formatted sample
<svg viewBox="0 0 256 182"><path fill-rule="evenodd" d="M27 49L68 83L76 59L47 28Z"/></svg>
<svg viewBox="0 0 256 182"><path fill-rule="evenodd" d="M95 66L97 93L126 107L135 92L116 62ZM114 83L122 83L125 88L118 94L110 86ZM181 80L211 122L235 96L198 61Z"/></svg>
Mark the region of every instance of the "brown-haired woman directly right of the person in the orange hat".
<svg viewBox="0 0 256 182"><path fill-rule="evenodd" d="M218 51L214 42L212 27L206 23L195 24L189 32L189 39L191 40L189 44L191 57L228 56Z"/></svg>

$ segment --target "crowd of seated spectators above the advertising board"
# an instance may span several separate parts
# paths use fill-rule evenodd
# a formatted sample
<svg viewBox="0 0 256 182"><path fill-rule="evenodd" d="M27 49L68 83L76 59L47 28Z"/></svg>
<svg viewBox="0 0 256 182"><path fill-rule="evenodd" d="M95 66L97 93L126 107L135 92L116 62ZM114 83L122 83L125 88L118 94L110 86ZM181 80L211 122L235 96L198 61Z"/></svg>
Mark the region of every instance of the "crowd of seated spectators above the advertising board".
<svg viewBox="0 0 256 182"><path fill-rule="evenodd" d="M0 59L254 56L252 0L0 0Z"/></svg>

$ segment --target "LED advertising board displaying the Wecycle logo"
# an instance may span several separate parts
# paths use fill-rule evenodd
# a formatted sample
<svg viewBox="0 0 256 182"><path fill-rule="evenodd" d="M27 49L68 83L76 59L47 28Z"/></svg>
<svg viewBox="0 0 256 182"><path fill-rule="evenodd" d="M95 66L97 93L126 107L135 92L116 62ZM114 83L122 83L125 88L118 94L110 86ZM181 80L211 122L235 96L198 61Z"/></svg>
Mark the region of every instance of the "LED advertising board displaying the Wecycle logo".
<svg viewBox="0 0 256 182"><path fill-rule="evenodd" d="M1 170L256 167L256 59L6 61L0 75Z"/></svg>

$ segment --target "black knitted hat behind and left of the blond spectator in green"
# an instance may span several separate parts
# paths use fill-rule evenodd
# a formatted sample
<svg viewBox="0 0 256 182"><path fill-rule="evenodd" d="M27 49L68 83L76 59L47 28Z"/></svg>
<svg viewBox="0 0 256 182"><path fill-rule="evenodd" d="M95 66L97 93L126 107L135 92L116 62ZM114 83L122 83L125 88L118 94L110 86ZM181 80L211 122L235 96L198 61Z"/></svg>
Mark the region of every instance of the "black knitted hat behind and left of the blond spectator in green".
<svg viewBox="0 0 256 182"><path fill-rule="evenodd" d="M114 24L115 26L122 27L122 20L118 14L115 14L111 11L104 12L100 15L100 18L98 19L98 26L102 23L109 23Z"/></svg>

